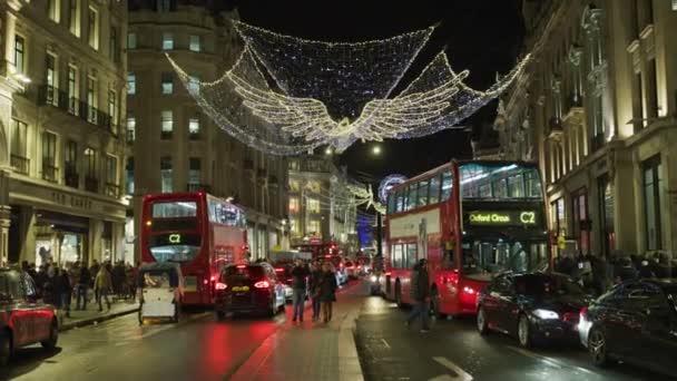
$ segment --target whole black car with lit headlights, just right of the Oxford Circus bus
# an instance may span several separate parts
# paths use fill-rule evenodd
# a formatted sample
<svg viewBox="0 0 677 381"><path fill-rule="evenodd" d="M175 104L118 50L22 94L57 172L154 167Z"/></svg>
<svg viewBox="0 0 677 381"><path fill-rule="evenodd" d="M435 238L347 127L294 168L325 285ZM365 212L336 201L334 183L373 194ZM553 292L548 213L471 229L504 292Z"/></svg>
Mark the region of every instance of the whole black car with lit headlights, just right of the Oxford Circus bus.
<svg viewBox="0 0 677 381"><path fill-rule="evenodd" d="M589 301L582 287L563 274L499 274L478 299L478 330L514 335L522 346L556 339L577 341L579 314Z"/></svg>

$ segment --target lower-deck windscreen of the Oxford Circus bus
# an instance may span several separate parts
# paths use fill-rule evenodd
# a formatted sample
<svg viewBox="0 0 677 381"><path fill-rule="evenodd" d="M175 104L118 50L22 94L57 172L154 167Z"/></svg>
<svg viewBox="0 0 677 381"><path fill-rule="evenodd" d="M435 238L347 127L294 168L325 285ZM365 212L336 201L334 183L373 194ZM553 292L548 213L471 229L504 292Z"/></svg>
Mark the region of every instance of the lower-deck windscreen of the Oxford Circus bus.
<svg viewBox="0 0 677 381"><path fill-rule="evenodd" d="M462 265L465 275L543 270L548 265L547 243L467 240L463 242Z"/></svg>

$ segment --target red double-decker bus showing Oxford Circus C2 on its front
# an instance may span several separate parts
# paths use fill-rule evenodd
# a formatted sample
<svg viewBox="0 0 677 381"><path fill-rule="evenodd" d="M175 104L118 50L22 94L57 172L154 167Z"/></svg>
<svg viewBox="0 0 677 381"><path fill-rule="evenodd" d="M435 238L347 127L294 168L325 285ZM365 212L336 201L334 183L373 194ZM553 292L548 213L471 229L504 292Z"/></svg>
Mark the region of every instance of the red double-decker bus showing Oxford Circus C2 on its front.
<svg viewBox="0 0 677 381"><path fill-rule="evenodd" d="M432 311L474 314L492 274L548 268L541 184L536 164L453 160L393 187L381 290L412 303L412 267L426 258Z"/></svg>

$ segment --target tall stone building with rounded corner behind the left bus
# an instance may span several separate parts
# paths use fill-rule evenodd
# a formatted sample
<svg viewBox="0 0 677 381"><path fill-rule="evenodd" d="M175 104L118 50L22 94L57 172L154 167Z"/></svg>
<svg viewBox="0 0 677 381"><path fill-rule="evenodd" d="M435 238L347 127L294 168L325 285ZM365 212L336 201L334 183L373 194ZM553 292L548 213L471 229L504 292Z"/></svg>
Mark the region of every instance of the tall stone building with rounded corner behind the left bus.
<svg viewBox="0 0 677 381"><path fill-rule="evenodd" d="M205 190L232 197L246 208L256 258L284 238L286 160L223 131L202 113L165 57L170 55L195 80L216 80L242 50L232 18L237 13L215 1L130 1L127 193L134 211L140 211L141 197L149 193ZM129 251L138 218L138 213L128 217Z"/></svg>

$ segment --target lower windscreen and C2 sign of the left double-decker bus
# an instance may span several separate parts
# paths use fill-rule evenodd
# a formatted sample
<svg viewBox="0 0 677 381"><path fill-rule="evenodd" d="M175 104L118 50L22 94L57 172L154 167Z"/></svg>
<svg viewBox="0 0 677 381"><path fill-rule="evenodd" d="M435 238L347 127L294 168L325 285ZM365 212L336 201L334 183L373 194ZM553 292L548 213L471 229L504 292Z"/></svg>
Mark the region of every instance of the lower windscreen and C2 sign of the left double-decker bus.
<svg viewBox="0 0 677 381"><path fill-rule="evenodd" d="M155 234L148 238L148 248L157 262L189 262L200 250L199 234Z"/></svg>

